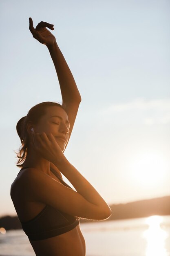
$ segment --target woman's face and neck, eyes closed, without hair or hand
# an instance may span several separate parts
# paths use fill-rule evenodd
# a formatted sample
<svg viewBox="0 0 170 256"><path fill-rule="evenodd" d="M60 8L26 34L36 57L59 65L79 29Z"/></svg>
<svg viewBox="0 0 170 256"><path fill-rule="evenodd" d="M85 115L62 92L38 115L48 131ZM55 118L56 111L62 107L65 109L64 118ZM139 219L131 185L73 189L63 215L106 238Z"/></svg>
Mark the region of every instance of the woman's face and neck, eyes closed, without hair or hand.
<svg viewBox="0 0 170 256"><path fill-rule="evenodd" d="M46 114L40 118L40 121L37 125L29 122L29 124L27 125L27 131L29 133L30 145L23 167L28 167L29 163L31 163L32 167L40 169L41 171L49 175L51 173L50 162L36 153L36 150L33 146L33 136L31 128L33 128L35 134L40 137L42 137L43 133L45 133L47 136L49 134L52 134L63 152L68 141L69 127L70 123L68 121L68 116L66 112L62 108L57 106L48 107L46 109ZM59 137L64 137L65 141L63 139L60 139Z"/></svg>

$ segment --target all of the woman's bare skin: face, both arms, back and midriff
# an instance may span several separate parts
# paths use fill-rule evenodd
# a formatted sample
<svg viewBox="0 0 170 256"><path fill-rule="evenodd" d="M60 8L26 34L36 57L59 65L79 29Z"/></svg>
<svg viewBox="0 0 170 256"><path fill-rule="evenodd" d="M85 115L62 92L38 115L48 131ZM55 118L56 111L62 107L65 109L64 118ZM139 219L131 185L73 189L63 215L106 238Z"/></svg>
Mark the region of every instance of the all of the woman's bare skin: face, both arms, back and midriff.
<svg viewBox="0 0 170 256"><path fill-rule="evenodd" d="M110 207L64 156L81 102L77 85L56 43L55 36L46 29L48 27L53 30L53 25L40 22L34 28L31 18L29 22L33 37L49 49L57 72L64 109L58 106L48 107L37 124L29 121L26 126L29 146L23 164L25 169L11 185L11 199L18 218L21 222L32 220L46 205L51 205L72 216L105 220L111 215ZM31 132L32 129L34 132ZM61 136L65 139L60 139ZM50 167L54 168L61 178L63 174L75 190L61 184L50 171ZM30 243L36 256L86 255L85 240L80 225L64 234Z"/></svg>

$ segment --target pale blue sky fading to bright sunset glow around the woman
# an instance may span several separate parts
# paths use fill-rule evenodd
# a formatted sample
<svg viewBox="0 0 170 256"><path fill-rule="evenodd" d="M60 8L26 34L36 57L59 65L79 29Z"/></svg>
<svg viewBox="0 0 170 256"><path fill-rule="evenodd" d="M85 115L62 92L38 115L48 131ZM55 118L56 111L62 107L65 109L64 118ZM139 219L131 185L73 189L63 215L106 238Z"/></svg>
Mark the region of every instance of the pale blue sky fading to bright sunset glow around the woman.
<svg viewBox="0 0 170 256"><path fill-rule="evenodd" d="M82 97L68 161L108 204L170 195L169 13L168 0L0 1L0 216L16 215L18 120L40 102L62 103L29 17L54 24Z"/></svg>

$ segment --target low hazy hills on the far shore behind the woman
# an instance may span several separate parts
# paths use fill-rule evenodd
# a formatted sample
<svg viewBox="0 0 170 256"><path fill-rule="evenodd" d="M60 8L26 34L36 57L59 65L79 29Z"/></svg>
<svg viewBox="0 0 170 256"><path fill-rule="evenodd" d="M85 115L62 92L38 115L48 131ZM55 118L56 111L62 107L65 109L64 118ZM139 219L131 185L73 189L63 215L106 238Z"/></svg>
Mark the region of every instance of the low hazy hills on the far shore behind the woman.
<svg viewBox="0 0 170 256"><path fill-rule="evenodd" d="M108 220L121 220L129 218L142 218L152 215L170 215L170 196L129 202L126 204L111 204L112 216ZM80 219L82 222L95 220ZM0 218L0 227L9 229L22 229L18 216L3 216Z"/></svg>

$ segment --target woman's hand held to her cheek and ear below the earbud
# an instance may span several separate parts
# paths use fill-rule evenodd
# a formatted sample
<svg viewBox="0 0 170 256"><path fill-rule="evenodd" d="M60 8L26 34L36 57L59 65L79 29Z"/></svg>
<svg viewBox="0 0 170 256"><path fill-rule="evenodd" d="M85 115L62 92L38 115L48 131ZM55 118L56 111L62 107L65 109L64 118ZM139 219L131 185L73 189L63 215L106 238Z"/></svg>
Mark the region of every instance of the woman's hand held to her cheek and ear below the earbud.
<svg viewBox="0 0 170 256"><path fill-rule="evenodd" d="M45 132L31 132L31 135L31 145L41 157L55 165L61 164L66 160L60 146L51 133L47 135Z"/></svg>

